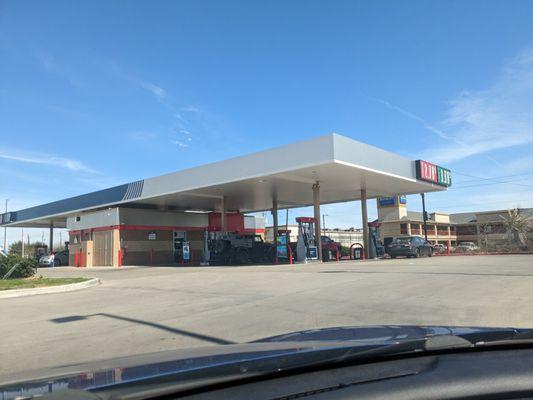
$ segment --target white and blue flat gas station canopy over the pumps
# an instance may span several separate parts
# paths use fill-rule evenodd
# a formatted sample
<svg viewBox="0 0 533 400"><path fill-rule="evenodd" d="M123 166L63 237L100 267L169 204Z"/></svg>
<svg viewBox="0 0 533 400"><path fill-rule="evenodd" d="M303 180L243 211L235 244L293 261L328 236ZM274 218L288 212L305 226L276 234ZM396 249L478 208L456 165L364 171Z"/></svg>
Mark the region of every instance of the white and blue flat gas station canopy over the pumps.
<svg viewBox="0 0 533 400"><path fill-rule="evenodd" d="M429 164L432 165L432 164ZM420 176L420 174L418 174ZM417 179L417 163L353 139L329 134L274 149L43 204L2 216L12 227L65 227L68 216L108 207L257 212L320 203L446 190Z"/></svg>

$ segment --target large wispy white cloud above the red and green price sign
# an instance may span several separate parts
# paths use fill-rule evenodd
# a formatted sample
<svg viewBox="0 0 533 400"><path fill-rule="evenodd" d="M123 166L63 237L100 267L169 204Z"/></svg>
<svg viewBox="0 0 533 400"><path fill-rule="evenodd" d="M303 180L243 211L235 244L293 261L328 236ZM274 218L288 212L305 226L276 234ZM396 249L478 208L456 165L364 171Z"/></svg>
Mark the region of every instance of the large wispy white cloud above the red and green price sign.
<svg viewBox="0 0 533 400"><path fill-rule="evenodd" d="M452 162L532 144L533 51L511 60L488 89L464 91L449 104L447 117L439 124L449 140L430 148L428 159Z"/></svg>

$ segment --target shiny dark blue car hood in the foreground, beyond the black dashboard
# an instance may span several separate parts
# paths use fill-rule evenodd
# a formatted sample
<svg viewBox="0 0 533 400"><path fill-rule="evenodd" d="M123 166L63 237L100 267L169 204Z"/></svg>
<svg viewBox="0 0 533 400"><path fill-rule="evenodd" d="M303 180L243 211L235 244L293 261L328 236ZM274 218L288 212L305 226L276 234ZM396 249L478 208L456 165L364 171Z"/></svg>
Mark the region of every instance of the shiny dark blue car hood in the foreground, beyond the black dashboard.
<svg viewBox="0 0 533 400"><path fill-rule="evenodd" d="M3 377L0 392L4 399L64 389L89 389L136 381L164 374L202 370L286 354L304 353L343 346L397 344L414 339L454 335L469 342L513 338L533 330L514 328L475 328L446 326L363 326L336 327L293 332L251 343L170 350L106 361L62 366Z"/></svg>

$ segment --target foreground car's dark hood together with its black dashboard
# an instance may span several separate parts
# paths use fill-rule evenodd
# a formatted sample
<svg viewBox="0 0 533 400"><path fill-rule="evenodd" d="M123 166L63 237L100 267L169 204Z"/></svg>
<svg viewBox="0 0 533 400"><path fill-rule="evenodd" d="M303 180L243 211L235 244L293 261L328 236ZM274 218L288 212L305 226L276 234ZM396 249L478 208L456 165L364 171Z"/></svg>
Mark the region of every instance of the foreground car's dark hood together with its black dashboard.
<svg viewBox="0 0 533 400"><path fill-rule="evenodd" d="M337 327L33 371L2 399L518 399L533 330Z"/></svg>

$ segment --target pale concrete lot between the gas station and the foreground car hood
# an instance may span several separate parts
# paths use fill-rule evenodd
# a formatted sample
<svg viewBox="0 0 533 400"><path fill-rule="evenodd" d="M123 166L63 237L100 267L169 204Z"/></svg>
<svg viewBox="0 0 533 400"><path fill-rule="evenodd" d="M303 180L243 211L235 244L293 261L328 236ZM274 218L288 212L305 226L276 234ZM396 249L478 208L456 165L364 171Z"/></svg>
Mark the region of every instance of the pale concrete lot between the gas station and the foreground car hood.
<svg viewBox="0 0 533 400"><path fill-rule="evenodd" d="M0 300L0 381L34 368L321 327L533 327L527 255L39 273L102 284Z"/></svg>

